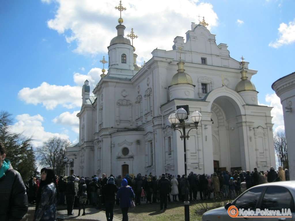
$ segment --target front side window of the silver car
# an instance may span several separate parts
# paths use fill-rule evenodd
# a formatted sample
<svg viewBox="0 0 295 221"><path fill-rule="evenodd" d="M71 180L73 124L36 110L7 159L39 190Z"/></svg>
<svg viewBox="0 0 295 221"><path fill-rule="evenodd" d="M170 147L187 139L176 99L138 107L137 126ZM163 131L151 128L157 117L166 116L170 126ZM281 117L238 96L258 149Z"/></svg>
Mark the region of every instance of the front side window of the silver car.
<svg viewBox="0 0 295 221"><path fill-rule="evenodd" d="M234 203L237 209L254 210L263 188L264 187L254 188L245 192Z"/></svg>

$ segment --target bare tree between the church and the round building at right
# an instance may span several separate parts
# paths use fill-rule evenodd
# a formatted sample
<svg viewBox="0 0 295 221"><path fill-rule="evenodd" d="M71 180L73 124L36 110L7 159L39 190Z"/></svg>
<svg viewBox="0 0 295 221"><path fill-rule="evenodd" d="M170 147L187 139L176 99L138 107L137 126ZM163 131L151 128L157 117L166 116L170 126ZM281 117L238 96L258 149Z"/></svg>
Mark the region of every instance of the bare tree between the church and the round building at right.
<svg viewBox="0 0 295 221"><path fill-rule="evenodd" d="M273 143L275 146L278 164L282 166L284 169L289 169L285 133L283 132L275 133L273 136Z"/></svg>

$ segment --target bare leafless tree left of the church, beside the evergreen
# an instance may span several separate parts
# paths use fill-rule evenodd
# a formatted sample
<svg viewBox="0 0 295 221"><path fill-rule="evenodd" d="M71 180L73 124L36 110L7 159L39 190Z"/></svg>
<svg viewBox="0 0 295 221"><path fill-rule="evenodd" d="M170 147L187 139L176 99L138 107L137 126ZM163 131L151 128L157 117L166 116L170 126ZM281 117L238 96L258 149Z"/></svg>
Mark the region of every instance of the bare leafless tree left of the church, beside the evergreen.
<svg viewBox="0 0 295 221"><path fill-rule="evenodd" d="M65 173L65 148L70 146L71 142L59 137L49 138L43 143L42 147L37 148L37 159L43 166L55 168L55 174L60 176Z"/></svg>

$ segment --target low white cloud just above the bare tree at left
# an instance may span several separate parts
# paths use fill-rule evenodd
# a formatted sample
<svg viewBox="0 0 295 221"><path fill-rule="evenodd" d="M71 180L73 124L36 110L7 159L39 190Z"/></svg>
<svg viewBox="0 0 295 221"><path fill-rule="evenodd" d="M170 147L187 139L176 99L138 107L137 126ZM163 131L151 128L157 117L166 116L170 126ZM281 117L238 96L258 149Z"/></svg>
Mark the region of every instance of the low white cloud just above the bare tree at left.
<svg viewBox="0 0 295 221"><path fill-rule="evenodd" d="M63 139L68 139L68 135L59 133L50 133L44 130L42 126L43 117L40 114L30 116L29 114L17 115L17 123L11 126L11 131L14 133L22 133L23 137L33 136L32 144L34 147L43 145L43 142L47 141L53 136L57 136Z"/></svg>

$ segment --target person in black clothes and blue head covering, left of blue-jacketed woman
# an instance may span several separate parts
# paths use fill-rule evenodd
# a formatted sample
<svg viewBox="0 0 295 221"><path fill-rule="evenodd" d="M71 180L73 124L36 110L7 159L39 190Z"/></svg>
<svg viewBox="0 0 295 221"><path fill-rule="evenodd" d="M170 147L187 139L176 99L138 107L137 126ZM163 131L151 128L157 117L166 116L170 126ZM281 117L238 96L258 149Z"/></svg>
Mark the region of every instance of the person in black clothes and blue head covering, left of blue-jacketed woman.
<svg viewBox="0 0 295 221"><path fill-rule="evenodd" d="M109 177L108 181L102 187L102 194L104 195L104 202L106 206L106 220L112 221L114 217L114 206L116 202L115 193L118 187L115 184L114 177Z"/></svg>

